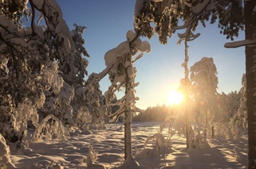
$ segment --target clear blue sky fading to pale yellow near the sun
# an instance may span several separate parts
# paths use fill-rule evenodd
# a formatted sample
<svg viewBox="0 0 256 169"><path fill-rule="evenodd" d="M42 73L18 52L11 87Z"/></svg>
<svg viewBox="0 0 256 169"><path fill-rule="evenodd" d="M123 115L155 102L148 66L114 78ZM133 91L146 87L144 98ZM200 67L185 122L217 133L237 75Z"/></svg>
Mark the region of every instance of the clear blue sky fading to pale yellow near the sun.
<svg viewBox="0 0 256 169"><path fill-rule="evenodd" d="M57 0L63 13L63 17L73 29L73 24L86 26L83 37L85 48L89 53L89 75L93 72L100 73L106 67L104 54L126 40L128 30L133 30L133 13L136 0ZM219 85L218 92L226 94L242 87L242 74L245 73L245 48L224 48L226 36L219 33L218 25L210 25L203 28L199 25L195 33L201 35L188 42L188 67L201 60L203 57L212 57L217 67ZM137 69L136 96L140 98L136 106L147 109L148 106L169 105L167 94L176 90L180 85L180 79L184 77L184 69L181 64L184 61L184 44L176 44L179 40L177 31L166 45L160 44L155 35L148 40L151 44L151 52L144 53L144 57L137 60L134 66ZM244 32L239 33L238 38L244 39ZM87 77L85 78L87 79ZM100 90L104 93L108 90L110 82L108 75L100 81ZM117 97L123 93L117 94Z"/></svg>

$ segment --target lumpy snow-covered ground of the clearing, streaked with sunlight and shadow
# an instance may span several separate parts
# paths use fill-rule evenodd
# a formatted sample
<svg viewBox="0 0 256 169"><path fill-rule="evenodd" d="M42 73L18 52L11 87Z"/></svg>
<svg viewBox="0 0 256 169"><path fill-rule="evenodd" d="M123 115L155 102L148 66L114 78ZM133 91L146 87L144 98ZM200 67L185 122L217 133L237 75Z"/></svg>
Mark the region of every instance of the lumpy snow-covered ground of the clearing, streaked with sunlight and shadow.
<svg viewBox="0 0 256 169"><path fill-rule="evenodd" d="M160 123L132 123L133 155L140 153L148 136L160 131ZM167 136L167 129L163 129ZM208 140L209 145L190 151L186 149L184 136L171 137L172 146L165 148L160 155L148 153L138 156L137 163L143 169L158 168L246 168L247 167L247 136L238 140ZM148 142L148 148L150 148ZM21 169L30 168L85 168L89 145L97 153L95 163L101 168L120 166L124 161L124 127L122 124L106 125L106 129L93 130L93 133L73 133L65 142L30 143L25 153L14 150L11 161ZM144 154L145 155L145 154ZM139 158L140 157L140 158ZM57 165L58 164L58 165ZM53 167L55 165L55 167ZM92 168L99 168L94 166Z"/></svg>

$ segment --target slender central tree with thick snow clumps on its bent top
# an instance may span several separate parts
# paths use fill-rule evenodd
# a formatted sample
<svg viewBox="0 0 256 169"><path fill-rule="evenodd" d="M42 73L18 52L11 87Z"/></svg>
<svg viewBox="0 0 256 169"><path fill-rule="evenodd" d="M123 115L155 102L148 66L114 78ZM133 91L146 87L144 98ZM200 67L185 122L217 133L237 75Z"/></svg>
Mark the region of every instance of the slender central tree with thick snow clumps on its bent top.
<svg viewBox="0 0 256 169"><path fill-rule="evenodd" d="M120 91L124 87L124 96L114 103L120 105L120 108L115 113L109 114L108 117L112 118L110 122L114 122L121 115L124 116L124 159L126 161L132 160L133 163L136 162L132 157L132 113L141 111L136 107L136 100L139 98L135 96L135 87L139 83L135 83L136 67L133 67L133 63L143 56L143 52L150 52L150 44L140 40L139 35L129 30L126 34L127 40L106 52L104 56L105 64L109 67L109 79L112 83L104 94L109 106L112 106L112 99L116 98L116 91ZM135 56L137 52L140 54Z"/></svg>

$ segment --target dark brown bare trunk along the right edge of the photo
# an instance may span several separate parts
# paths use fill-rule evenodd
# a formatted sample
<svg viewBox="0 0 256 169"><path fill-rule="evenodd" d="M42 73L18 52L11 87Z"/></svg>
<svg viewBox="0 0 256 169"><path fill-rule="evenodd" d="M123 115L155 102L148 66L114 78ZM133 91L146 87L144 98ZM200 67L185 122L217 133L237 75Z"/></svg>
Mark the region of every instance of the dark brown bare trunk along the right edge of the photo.
<svg viewBox="0 0 256 169"><path fill-rule="evenodd" d="M246 40L256 38L256 1L245 1ZM256 46L246 46L246 97L248 117L248 168L256 168Z"/></svg>

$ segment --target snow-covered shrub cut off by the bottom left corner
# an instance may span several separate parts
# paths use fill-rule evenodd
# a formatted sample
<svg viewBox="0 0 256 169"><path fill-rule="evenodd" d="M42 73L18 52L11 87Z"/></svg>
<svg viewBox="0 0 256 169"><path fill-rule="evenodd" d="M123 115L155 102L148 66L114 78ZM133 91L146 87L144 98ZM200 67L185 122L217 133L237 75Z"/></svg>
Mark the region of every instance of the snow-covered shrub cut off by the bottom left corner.
<svg viewBox="0 0 256 169"><path fill-rule="evenodd" d="M6 169L6 168L16 168L14 166L14 163L10 160L10 148L8 145L6 145L6 140L0 133L0 168Z"/></svg>

